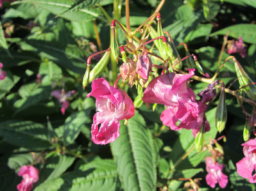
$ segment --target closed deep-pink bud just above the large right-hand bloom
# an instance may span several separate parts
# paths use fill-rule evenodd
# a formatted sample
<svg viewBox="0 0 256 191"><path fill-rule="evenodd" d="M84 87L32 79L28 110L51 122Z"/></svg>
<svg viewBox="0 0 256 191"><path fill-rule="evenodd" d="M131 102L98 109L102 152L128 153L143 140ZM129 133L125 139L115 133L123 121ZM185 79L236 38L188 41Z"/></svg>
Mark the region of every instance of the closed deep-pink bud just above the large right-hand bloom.
<svg viewBox="0 0 256 191"><path fill-rule="evenodd" d="M139 74L139 76L142 79L147 81L151 68L152 68L152 61L148 55L148 51L146 50L144 54L142 53L141 56L139 56L139 59L136 63L136 72Z"/></svg>

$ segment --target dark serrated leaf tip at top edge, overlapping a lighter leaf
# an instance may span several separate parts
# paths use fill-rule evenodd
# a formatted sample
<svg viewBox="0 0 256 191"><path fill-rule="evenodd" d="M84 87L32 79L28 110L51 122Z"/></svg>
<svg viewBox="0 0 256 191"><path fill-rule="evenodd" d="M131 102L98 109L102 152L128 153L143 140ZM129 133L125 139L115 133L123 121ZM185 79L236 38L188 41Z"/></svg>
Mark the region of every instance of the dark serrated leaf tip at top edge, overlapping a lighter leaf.
<svg viewBox="0 0 256 191"><path fill-rule="evenodd" d="M71 7L63 13L60 13L60 15L63 15L69 11L77 11L82 8L89 8L90 6L94 6L96 3L100 2L101 0L75 0L74 3L71 4Z"/></svg>

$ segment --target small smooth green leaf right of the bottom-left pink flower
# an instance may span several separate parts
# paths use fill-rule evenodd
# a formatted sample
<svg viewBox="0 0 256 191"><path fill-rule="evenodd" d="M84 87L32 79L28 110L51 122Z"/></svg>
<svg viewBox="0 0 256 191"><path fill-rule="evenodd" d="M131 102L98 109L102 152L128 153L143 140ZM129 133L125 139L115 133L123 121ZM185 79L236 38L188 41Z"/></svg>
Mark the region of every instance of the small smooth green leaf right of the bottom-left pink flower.
<svg viewBox="0 0 256 191"><path fill-rule="evenodd" d="M58 164L51 174L48 176L47 180L57 178L62 175L74 162L76 158L70 155L60 155Z"/></svg>

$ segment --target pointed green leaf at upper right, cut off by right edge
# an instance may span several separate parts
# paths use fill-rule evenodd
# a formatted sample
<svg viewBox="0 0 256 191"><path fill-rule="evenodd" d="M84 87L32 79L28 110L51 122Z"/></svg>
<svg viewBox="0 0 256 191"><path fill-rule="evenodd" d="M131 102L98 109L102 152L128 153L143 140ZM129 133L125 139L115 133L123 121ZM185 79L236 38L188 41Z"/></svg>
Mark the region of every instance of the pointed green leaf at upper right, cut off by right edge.
<svg viewBox="0 0 256 191"><path fill-rule="evenodd" d="M256 24L236 24L216 31L210 36L226 35L227 33L233 38L238 39L241 36L244 42L256 44Z"/></svg>

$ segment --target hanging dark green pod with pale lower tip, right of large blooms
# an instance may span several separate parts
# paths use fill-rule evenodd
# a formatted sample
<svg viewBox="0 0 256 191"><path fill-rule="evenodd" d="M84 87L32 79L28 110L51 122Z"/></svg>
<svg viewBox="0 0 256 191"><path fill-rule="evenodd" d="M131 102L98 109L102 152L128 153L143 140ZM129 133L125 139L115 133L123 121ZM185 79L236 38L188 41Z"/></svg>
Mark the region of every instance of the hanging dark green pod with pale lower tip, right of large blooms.
<svg viewBox="0 0 256 191"><path fill-rule="evenodd" d="M225 89L222 88L221 93L219 95L219 103L215 113L215 125L219 133L222 132L225 128L226 118L227 118L226 95L225 95Z"/></svg>

